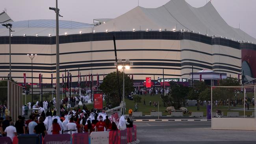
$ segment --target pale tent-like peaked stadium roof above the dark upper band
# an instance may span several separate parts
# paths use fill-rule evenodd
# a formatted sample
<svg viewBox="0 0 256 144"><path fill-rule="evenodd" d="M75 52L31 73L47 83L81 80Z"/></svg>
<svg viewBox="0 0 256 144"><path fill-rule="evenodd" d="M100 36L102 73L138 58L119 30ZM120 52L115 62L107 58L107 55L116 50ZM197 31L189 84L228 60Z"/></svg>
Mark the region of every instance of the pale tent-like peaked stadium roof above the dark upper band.
<svg viewBox="0 0 256 144"><path fill-rule="evenodd" d="M35 36L55 35L55 20L24 20L12 22L13 36L24 34ZM78 34L108 31L193 31L208 36L227 37L235 41L249 41L256 43L251 37L239 28L229 26L219 15L211 2L203 7L192 7L185 0L171 0L158 8L135 7L123 15L109 19L98 26L81 22L59 21L59 35ZM9 35L8 30L0 27L0 35Z"/></svg>

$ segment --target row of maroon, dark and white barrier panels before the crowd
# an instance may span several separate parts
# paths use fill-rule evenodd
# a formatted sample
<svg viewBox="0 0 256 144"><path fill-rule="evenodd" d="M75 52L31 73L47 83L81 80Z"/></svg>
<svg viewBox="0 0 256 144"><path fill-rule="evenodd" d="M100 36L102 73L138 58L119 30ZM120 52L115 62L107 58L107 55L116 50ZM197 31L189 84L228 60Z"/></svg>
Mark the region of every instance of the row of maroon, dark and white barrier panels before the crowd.
<svg viewBox="0 0 256 144"><path fill-rule="evenodd" d="M126 128L122 131L102 131L60 135L19 135L13 138L0 137L0 144L127 144L137 140L137 127Z"/></svg>

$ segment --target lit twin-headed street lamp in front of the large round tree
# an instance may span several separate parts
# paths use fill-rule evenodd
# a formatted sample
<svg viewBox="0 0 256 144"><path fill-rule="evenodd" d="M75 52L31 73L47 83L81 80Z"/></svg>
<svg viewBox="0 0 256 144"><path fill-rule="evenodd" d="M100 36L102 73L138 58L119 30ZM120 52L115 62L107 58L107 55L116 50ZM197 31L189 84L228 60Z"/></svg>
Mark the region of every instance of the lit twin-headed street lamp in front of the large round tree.
<svg viewBox="0 0 256 144"><path fill-rule="evenodd" d="M117 63L115 62L115 66L118 67L119 70L123 69L123 80L122 80L122 114L125 114L125 103L124 103L124 69L130 69L130 66L133 66L133 62L129 59L122 61L122 59L118 59Z"/></svg>

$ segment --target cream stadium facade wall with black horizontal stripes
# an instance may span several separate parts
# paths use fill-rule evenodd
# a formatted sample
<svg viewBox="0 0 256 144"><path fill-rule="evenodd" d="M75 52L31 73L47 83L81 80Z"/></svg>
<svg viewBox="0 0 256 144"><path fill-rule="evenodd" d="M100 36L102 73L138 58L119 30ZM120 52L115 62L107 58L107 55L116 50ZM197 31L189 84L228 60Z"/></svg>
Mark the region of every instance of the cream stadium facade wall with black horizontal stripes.
<svg viewBox="0 0 256 144"><path fill-rule="evenodd" d="M135 80L146 77L190 78L189 73L202 69L227 73L237 78L241 74L241 49L255 44L208 37L186 31L115 31L61 35L59 37L60 76L65 69L77 81L78 68L82 76L89 73L103 75L116 71L113 35L116 38L118 59L134 62L127 74ZM56 37L11 37L12 78L31 82L31 59L26 54L37 54L33 59L33 81L38 83L39 73L43 83L51 83L51 73L56 78ZM9 37L0 37L0 77L9 74ZM87 77L88 79L88 77ZM55 81L55 80L54 80ZM60 80L61 81L61 80Z"/></svg>

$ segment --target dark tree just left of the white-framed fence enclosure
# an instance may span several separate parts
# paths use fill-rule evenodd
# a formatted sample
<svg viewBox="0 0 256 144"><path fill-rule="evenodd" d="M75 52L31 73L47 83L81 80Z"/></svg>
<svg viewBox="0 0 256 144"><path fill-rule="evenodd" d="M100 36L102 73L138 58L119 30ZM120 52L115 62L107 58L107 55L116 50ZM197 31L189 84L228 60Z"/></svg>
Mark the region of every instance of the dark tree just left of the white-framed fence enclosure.
<svg viewBox="0 0 256 144"><path fill-rule="evenodd" d="M200 110L200 101L210 100L210 87L204 81L195 81L194 87L189 90L187 98L197 100L197 111Z"/></svg>

